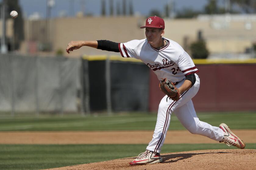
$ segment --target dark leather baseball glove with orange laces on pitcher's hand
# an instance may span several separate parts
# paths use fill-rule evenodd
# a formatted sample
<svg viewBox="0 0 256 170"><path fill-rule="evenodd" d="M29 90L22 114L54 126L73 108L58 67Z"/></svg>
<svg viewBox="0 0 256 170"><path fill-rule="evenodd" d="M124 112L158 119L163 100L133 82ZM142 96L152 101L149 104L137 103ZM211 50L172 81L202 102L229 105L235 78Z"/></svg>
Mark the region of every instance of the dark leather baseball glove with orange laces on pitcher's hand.
<svg viewBox="0 0 256 170"><path fill-rule="evenodd" d="M162 78L162 80L159 83L159 88L164 94L166 94L170 99L177 101L180 98L180 92L175 87L175 85L172 83L171 80L168 80L167 78Z"/></svg>

